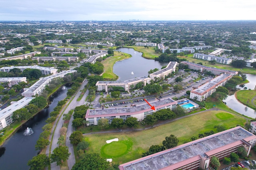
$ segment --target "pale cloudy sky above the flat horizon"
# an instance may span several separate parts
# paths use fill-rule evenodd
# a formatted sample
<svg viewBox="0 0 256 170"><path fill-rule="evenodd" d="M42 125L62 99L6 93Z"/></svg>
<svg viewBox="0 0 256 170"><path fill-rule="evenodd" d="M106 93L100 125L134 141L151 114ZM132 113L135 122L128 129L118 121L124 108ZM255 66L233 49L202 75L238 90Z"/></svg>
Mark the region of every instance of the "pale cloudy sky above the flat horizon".
<svg viewBox="0 0 256 170"><path fill-rule="evenodd" d="M1 0L0 21L256 20L256 0Z"/></svg>

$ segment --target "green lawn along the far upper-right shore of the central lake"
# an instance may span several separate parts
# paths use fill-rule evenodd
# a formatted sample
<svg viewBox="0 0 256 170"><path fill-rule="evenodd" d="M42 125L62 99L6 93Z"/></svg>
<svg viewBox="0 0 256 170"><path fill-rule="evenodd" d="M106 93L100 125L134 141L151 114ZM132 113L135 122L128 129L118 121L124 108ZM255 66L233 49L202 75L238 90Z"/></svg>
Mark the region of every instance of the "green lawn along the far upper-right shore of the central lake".
<svg viewBox="0 0 256 170"><path fill-rule="evenodd" d="M126 46L127 48L133 48L135 51L139 51L142 54L142 57L146 59L154 59L156 57L159 57L162 53L155 53L155 48L154 47L142 47L142 46Z"/></svg>

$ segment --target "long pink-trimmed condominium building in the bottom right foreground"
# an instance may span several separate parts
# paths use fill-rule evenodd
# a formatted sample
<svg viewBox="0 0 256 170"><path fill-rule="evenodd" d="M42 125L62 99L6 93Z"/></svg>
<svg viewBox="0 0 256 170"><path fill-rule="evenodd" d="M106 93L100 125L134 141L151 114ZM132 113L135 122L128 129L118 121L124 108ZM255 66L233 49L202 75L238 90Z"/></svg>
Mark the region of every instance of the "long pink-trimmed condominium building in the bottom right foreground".
<svg viewBox="0 0 256 170"><path fill-rule="evenodd" d="M119 166L120 170L208 170L213 156L222 160L244 147L247 156L256 136L242 127L234 127L192 142L139 158Z"/></svg>

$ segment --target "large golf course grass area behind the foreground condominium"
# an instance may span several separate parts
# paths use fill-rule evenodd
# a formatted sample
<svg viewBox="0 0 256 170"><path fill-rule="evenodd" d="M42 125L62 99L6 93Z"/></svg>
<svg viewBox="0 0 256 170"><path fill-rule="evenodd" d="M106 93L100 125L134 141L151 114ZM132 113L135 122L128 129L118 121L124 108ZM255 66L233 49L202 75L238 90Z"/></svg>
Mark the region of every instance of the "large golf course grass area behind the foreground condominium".
<svg viewBox="0 0 256 170"><path fill-rule="evenodd" d="M196 123L195 123L196 122ZM190 141L192 136L198 137L199 133L214 129L214 125L225 125L228 129L236 125L244 125L246 119L225 111L206 111L197 115L182 118L158 127L144 131L131 131L123 133L100 133L86 135L86 141L90 143L88 153L102 153L102 147L106 140L118 138L120 141L131 141L132 149L123 156L108 156L116 164L121 164L141 157L142 152L148 150L151 145L162 145L166 136L175 135L179 144ZM104 154L102 155L104 156Z"/></svg>

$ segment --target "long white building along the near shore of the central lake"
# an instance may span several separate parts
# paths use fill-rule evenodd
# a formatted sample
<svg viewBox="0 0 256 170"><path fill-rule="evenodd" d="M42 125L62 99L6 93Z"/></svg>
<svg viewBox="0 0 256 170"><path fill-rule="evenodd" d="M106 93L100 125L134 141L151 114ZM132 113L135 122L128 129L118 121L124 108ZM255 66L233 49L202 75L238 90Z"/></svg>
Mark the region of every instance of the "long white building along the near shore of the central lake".
<svg viewBox="0 0 256 170"><path fill-rule="evenodd" d="M131 89L132 85L136 86L136 84L142 82L143 86L146 86L147 83L150 84L150 80L151 78L142 76L124 81L98 81L95 85L97 86L98 91L105 90L106 92L108 92L111 86L123 87L125 91L128 91Z"/></svg>

